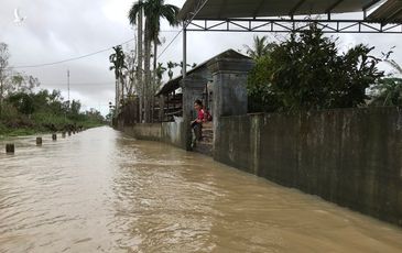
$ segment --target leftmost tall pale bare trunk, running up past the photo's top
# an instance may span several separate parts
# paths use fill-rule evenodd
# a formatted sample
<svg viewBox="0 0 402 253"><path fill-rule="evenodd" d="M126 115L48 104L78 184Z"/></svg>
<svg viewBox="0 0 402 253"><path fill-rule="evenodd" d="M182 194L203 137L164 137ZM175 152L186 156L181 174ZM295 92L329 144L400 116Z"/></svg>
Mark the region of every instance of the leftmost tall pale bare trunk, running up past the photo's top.
<svg viewBox="0 0 402 253"><path fill-rule="evenodd" d="M141 3L142 0L139 0L139 2ZM138 68L137 68L137 81L138 81L138 86L140 87L140 92L139 92L139 121L142 123L142 108L143 108L143 100L144 100L144 84L143 84L143 79L142 79L142 10L140 10L139 14L138 14Z"/></svg>

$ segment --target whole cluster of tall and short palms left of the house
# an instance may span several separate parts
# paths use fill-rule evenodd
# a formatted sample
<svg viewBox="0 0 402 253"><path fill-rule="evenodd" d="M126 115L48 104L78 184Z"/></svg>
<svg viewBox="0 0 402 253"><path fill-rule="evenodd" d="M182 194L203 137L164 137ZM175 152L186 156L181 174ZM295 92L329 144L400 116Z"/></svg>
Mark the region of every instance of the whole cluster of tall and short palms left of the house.
<svg viewBox="0 0 402 253"><path fill-rule="evenodd" d="M113 47L109 56L110 70L116 77L116 101L111 106L110 116L117 118L121 108L138 101L140 121L151 122L155 106L155 94L161 87L162 76L169 69L170 78L173 68L183 64L159 63L159 47L164 43L161 37L161 21L165 20L171 26L180 24L176 19L180 9L165 3L164 0L134 1L128 12L129 23L137 30L134 50L123 51L121 46Z"/></svg>

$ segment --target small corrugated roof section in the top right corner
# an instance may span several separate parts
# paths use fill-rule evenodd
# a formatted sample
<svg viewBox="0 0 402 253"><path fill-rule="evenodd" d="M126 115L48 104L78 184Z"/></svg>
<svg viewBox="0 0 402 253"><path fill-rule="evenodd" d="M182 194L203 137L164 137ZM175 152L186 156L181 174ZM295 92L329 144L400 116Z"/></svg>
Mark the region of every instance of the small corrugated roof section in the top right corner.
<svg viewBox="0 0 402 253"><path fill-rule="evenodd" d="M402 0L388 0L374 10L367 20L381 23L402 23Z"/></svg>

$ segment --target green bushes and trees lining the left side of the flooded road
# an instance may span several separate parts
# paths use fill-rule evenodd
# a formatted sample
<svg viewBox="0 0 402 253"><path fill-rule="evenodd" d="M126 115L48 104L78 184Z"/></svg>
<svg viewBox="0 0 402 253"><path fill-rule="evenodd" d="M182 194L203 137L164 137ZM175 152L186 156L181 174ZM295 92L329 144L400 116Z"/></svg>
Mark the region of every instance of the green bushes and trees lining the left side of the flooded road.
<svg viewBox="0 0 402 253"><path fill-rule="evenodd" d="M58 90L41 89L37 78L9 66L8 45L0 43L0 138L105 124L99 111L64 100Z"/></svg>

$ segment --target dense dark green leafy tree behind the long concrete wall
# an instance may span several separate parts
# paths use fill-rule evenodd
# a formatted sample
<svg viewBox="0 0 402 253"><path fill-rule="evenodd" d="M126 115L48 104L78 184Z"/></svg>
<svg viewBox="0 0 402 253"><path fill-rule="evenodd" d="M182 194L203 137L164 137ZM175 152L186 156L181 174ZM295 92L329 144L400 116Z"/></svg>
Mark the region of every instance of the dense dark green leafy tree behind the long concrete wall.
<svg viewBox="0 0 402 253"><path fill-rule="evenodd" d="M337 42L315 25L278 43L254 37L247 48L256 61L248 79L249 111L402 106L401 67L389 59L392 52L377 57L374 47L362 44L341 52ZM396 73L385 75L380 63Z"/></svg>

